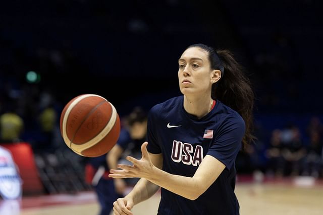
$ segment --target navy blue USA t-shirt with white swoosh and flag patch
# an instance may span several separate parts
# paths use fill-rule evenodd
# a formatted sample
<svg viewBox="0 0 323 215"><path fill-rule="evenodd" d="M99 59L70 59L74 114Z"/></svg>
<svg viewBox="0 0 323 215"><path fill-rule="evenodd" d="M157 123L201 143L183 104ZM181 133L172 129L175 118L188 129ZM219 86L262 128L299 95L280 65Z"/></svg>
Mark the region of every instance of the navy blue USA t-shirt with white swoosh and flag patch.
<svg viewBox="0 0 323 215"><path fill-rule="evenodd" d="M161 188L158 214L239 214L234 193L235 159L245 133L242 117L216 101L214 108L200 119L187 113L183 96L151 108L147 125L147 150L163 154L163 170L193 177L206 155L221 161L226 168L196 200L189 200Z"/></svg>

